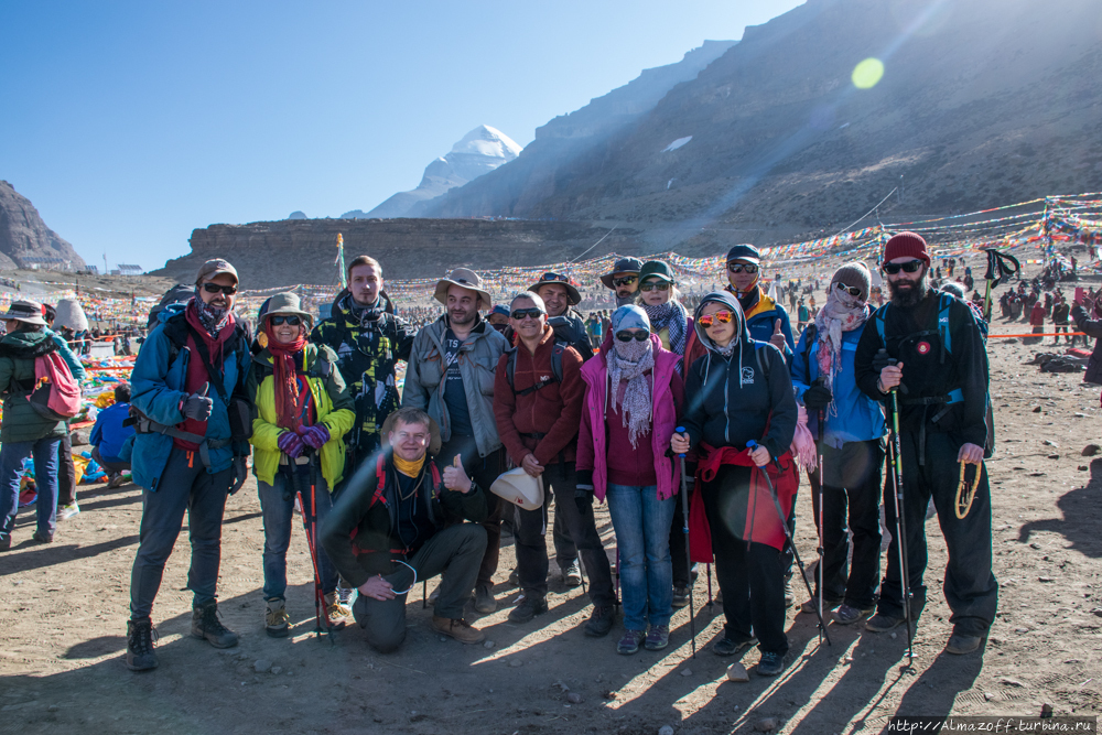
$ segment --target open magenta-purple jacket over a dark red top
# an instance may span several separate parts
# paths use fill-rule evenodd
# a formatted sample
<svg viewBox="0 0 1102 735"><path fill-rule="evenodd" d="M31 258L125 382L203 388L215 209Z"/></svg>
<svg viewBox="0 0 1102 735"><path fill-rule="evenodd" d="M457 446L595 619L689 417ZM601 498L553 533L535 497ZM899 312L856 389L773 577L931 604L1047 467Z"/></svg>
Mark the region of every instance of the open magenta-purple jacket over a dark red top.
<svg viewBox="0 0 1102 735"><path fill-rule="evenodd" d="M681 378L674 371L678 355L663 349L658 335L650 335L650 344L655 350L655 369L651 372L652 424L650 442L655 453L655 475L658 478L658 499L672 497L678 486L673 479L673 461L666 455L670 445L670 436L678 425L677 407L671 380ZM585 381L585 402L582 407L582 424L577 436L577 469L593 471L593 491L598 500L605 499L608 487L608 463L605 431L605 414L608 408L608 363L605 352L594 355L582 366L582 380Z"/></svg>

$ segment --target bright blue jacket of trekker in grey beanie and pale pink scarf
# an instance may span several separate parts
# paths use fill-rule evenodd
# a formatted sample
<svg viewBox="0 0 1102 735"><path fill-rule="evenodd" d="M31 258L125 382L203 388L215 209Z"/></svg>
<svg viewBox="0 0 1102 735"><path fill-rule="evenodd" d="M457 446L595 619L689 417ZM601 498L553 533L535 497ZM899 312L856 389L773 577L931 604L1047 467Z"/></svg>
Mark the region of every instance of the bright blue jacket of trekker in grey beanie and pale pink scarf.
<svg viewBox="0 0 1102 735"><path fill-rule="evenodd" d="M823 409L827 417L823 441L834 448L841 448L842 444L846 442L879 439L886 433L880 404L857 388L856 372L853 367L853 358L857 354L857 342L868 324L865 322L853 332L842 333L842 369L834 377L834 390L832 391L834 403ZM792 359L792 387L796 389L796 398L801 403L803 402L803 392L819 377L819 341L815 339L810 350L807 344L808 337L814 332L813 323L803 331ZM812 436L819 435L819 417L817 414L818 411L814 413L808 411L808 429Z"/></svg>

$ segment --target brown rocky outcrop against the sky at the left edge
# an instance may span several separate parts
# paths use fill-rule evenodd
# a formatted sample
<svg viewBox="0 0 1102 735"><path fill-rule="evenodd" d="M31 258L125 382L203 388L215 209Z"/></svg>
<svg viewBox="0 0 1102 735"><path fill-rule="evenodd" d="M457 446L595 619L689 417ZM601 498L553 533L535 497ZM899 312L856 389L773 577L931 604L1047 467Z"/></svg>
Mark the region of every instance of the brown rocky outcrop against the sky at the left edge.
<svg viewBox="0 0 1102 735"><path fill-rule="evenodd" d="M84 258L46 227L30 199L0 180L0 268L84 270Z"/></svg>

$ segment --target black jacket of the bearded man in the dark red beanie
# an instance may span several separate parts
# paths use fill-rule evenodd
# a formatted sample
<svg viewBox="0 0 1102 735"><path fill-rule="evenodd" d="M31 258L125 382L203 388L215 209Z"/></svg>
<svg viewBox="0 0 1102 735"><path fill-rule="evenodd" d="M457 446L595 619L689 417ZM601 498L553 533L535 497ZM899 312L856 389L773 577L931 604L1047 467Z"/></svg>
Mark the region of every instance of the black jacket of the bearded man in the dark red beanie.
<svg viewBox="0 0 1102 735"><path fill-rule="evenodd" d="M984 446L987 440L987 350L971 307L954 296L949 306L948 349L942 350L938 326L940 292L930 291L927 298L910 310L880 306L865 324L857 343L854 371L857 387L873 400L887 402L888 396L876 388L880 374L873 367L877 350L885 347L888 355L903 361L903 385L899 390L900 431L949 432L961 444ZM880 341L876 320L884 320ZM960 391L961 400L951 406L937 401ZM948 411L943 411L948 408ZM937 421L936 417L940 415Z"/></svg>

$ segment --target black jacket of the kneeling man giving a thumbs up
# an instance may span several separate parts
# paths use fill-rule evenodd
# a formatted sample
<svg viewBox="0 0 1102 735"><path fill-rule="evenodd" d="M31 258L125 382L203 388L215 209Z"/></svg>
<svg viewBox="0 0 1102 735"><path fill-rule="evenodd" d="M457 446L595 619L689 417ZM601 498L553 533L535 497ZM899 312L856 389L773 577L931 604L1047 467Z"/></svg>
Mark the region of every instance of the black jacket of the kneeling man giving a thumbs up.
<svg viewBox="0 0 1102 735"><path fill-rule="evenodd" d="M389 451L364 462L345 486L321 527L325 553L341 575L358 587L376 574L393 572L392 559L404 559L397 533L398 471ZM425 457L419 490L429 518L442 529L460 519L480 522L487 517L486 495L475 486L469 494L444 487L432 457ZM429 489L431 491L424 491ZM431 499L430 499L431 498Z"/></svg>

